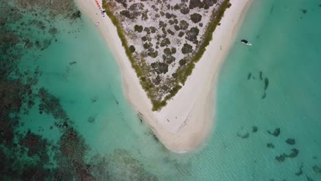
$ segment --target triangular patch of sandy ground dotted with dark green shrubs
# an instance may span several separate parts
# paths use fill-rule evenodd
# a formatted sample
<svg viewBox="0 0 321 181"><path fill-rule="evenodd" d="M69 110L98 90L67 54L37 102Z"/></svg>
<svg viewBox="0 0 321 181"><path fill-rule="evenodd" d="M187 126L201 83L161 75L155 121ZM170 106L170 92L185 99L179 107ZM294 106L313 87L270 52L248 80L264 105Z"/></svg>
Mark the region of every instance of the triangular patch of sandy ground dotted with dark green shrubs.
<svg viewBox="0 0 321 181"><path fill-rule="evenodd" d="M170 3L103 1L152 110L163 108L185 84L230 6L229 0Z"/></svg>

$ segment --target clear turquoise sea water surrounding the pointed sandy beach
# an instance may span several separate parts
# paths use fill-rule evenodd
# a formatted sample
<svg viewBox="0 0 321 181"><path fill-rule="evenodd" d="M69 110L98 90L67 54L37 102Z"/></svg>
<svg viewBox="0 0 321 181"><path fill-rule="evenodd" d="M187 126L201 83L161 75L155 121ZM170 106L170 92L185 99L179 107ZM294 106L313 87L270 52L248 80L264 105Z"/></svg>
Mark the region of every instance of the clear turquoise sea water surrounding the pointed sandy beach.
<svg viewBox="0 0 321 181"><path fill-rule="evenodd" d="M32 93L18 91L19 112L14 96L8 104L9 123L0 112L1 180L321 180L320 4L254 1L219 73L209 143L189 154L167 151L139 121L115 58L84 14L50 19L54 36L47 23L36 35L20 29L51 44L12 51L21 55L19 70L0 78L1 95L19 90L8 82L32 86ZM4 134L10 129L14 141Z"/></svg>

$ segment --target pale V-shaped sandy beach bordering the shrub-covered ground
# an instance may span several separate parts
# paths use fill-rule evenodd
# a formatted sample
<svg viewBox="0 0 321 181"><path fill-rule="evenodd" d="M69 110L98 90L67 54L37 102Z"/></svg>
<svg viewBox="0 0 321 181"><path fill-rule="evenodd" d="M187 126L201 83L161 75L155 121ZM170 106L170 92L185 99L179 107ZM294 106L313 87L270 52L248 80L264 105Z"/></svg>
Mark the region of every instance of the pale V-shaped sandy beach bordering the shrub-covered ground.
<svg viewBox="0 0 321 181"><path fill-rule="evenodd" d="M153 130L163 145L177 153L190 152L204 145L214 124L215 96L213 94L216 94L217 74L252 0L230 0L232 6L224 12L221 25L217 26L213 32L213 39L206 47L202 58L195 64L185 86L182 86L178 93L167 101L167 106L159 112L152 111L152 103L141 87L139 78L136 77L125 49L121 45L117 29L108 16L102 17L94 0L76 0L76 2L93 21L93 25L99 22L97 26L99 32L119 64L126 99L136 112L143 115L143 121Z"/></svg>

